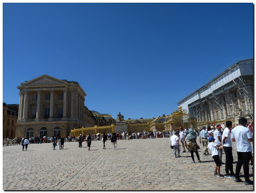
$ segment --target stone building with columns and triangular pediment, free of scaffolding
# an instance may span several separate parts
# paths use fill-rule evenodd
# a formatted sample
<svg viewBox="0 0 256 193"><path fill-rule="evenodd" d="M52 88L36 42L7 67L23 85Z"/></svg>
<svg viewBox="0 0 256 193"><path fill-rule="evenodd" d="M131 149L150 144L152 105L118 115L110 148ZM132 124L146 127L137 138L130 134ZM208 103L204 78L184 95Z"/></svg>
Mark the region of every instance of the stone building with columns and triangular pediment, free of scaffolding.
<svg viewBox="0 0 256 193"><path fill-rule="evenodd" d="M20 108L16 136L66 137L74 128L94 124L84 107L86 93L78 82L42 75L17 88Z"/></svg>

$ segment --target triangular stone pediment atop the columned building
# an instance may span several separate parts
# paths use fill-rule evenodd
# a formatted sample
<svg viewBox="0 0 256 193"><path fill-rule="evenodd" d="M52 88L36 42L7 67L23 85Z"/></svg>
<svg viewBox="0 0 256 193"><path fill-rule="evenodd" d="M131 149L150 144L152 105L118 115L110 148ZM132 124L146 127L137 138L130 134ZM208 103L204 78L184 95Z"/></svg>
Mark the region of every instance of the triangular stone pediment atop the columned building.
<svg viewBox="0 0 256 193"><path fill-rule="evenodd" d="M56 85L56 84L69 84L69 83L48 75L42 75L40 77L32 79L31 81L26 81L21 85L29 86L29 85Z"/></svg>

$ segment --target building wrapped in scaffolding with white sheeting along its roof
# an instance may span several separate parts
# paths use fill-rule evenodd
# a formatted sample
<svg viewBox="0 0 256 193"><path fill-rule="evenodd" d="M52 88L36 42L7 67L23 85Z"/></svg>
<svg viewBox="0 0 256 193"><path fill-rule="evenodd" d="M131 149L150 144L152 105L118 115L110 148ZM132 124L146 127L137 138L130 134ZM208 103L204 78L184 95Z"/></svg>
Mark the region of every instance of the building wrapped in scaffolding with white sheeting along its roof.
<svg viewBox="0 0 256 193"><path fill-rule="evenodd" d="M188 110L197 127L211 123L225 126L231 120L253 118L253 59L238 61L209 83L178 102Z"/></svg>

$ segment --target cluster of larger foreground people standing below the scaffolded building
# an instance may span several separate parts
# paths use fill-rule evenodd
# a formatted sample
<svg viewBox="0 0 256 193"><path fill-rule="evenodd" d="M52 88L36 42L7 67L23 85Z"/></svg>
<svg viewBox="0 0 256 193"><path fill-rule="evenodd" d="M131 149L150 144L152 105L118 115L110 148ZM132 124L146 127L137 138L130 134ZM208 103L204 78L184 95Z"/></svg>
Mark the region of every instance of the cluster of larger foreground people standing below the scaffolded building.
<svg viewBox="0 0 256 193"><path fill-rule="evenodd" d="M196 134L195 130L180 127L180 131L174 132L171 136L171 148L174 150L174 158L182 157L180 152L186 152L186 149L191 154L192 163L195 163L194 153L201 163L200 155L198 154L198 146L196 138L199 136L199 142L203 146L203 155L208 156L208 149L211 152L212 159L216 163L213 174L217 177L234 178L236 182L242 182L240 179L240 170L243 165L244 169L244 183L249 185L253 181L249 178L249 163L253 165L253 121L249 124L246 118L240 118L238 126L232 128L232 122L226 122L226 128L217 125L215 129L202 127L202 130ZM233 155L232 155L232 142L236 142L236 151L238 161L236 170L233 170ZM223 150L226 155L225 163L222 161ZM220 173L220 166L225 165L225 174Z"/></svg>

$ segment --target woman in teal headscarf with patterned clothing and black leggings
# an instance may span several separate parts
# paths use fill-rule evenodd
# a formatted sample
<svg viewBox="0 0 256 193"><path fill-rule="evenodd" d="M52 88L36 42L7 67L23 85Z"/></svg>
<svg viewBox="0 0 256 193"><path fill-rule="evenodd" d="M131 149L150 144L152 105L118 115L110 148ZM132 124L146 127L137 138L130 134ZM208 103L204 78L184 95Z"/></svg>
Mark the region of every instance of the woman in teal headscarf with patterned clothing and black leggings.
<svg viewBox="0 0 256 193"><path fill-rule="evenodd" d="M200 160L200 156L198 154L198 150L197 150L198 145L196 143L196 138L197 138L197 135L194 133L194 131L192 129L189 129L188 135L185 138L185 141L188 141L188 150L190 151L193 163L195 163L194 152L196 153L198 163L201 163L202 161Z"/></svg>

